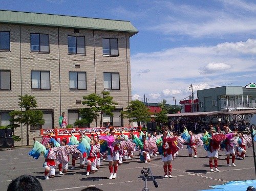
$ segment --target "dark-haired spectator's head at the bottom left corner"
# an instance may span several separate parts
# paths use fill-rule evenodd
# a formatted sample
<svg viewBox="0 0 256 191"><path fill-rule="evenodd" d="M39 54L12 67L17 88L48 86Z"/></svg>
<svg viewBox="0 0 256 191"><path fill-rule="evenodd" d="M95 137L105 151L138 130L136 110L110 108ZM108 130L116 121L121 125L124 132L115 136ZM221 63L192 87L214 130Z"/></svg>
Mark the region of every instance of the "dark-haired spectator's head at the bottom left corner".
<svg viewBox="0 0 256 191"><path fill-rule="evenodd" d="M7 191L42 191L42 186L35 177L22 175L11 181Z"/></svg>

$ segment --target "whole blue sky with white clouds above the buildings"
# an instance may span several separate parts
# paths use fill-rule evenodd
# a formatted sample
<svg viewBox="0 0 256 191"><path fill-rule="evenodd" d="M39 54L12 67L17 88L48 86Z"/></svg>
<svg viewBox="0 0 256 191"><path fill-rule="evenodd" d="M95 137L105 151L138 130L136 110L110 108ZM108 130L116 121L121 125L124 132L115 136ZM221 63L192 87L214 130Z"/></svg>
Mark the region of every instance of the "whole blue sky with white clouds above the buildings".
<svg viewBox="0 0 256 191"><path fill-rule="evenodd" d="M174 104L191 84L196 93L256 82L256 1L0 0L0 9L131 21L133 99Z"/></svg>

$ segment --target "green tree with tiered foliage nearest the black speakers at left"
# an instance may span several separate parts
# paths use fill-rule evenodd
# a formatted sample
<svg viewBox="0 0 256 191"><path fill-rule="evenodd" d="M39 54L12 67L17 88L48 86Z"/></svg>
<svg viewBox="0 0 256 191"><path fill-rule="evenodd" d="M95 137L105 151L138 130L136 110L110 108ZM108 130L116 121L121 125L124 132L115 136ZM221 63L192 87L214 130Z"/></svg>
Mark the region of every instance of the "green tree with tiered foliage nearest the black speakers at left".
<svg viewBox="0 0 256 191"><path fill-rule="evenodd" d="M12 117L11 123L19 123L26 125L27 127L27 145L29 145L29 126L33 125L44 125L45 120L42 118L43 113L41 110L32 110L30 108L37 108L37 102L35 97L28 96L28 94L24 96L19 96L19 107L22 109L14 110L10 112L10 116ZM25 110L23 110L25 109Z"/></svg>

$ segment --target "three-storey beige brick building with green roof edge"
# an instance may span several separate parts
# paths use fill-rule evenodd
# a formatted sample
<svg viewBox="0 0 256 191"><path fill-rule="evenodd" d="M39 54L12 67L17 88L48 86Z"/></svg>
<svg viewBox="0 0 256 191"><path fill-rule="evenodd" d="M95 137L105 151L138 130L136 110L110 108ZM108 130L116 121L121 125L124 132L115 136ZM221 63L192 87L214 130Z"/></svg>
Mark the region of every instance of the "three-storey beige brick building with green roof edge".
<svg viewBox="0 0 256 191"><path fill-rule="evenodd" d="M104 122L124 126L120 111L131 101L130 21L0 10L0 125L19 110L18 96L36 98L43 129L79 118L82 97L109 91L119 105ZM91 124L95 127L95 122ZM40 127L30 128L30 138ZM26 142L26 127L15 130Z"/></svg>

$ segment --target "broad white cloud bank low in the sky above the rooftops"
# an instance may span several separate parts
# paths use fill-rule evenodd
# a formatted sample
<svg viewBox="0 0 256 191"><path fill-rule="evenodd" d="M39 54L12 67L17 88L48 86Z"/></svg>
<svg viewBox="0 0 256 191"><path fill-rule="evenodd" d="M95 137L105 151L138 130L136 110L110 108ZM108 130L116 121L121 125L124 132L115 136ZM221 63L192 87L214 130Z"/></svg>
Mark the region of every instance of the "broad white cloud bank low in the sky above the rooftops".
<svg viewBox="0 0 256 191"><path fill-rule="evenodd" d="M246 85L248 78L236 76L256 73L255 39L243 42L224 42L214 46L178 47L154 53L131 55L132 90L150 94L151 102L159 103L172 97L181 100L189 96L188 86L198 89L218 86ZM138 76L147 68L151 75ZM248 81L249 80L249 81ZM172 87L172 88L170 88Z"/></svg>

